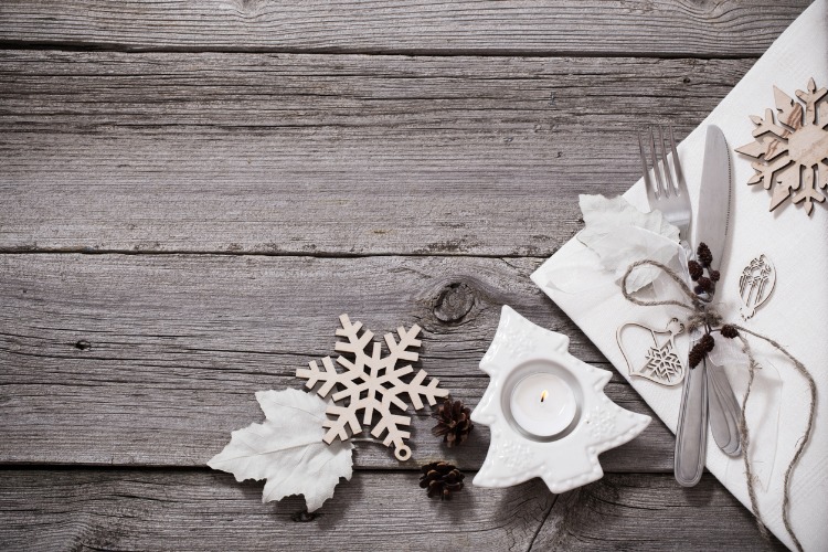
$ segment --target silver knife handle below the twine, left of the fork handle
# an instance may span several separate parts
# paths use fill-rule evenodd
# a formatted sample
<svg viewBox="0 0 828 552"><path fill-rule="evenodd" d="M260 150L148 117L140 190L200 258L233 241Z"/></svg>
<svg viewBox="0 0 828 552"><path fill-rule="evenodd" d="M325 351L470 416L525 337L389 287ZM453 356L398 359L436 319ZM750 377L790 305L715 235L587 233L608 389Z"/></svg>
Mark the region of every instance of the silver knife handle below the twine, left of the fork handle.
<svg viewBox="0 0 828 552"><path fill-rule="evenodd" d="M693 487L704 471L708 452L708 378L704 361L687 371L676 428L676 480Z"/></svg>

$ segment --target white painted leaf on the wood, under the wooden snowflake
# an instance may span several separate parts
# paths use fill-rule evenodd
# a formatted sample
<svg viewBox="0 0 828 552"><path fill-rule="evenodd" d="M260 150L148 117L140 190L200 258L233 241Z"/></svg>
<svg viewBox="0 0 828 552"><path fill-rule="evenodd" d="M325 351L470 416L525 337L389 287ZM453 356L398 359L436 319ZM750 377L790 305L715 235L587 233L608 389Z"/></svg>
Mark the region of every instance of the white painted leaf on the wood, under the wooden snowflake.
<svg viewBox="0 0 828 552"><path fill-rule="evenodd" d="M224 450L208 461L236 481L267 479L263 502L305 495L308 511L333 496L340 477L353 474L353 445L322 440L328 404L295 389L259 391L256 400L267 420L231 434Z"/></svg>

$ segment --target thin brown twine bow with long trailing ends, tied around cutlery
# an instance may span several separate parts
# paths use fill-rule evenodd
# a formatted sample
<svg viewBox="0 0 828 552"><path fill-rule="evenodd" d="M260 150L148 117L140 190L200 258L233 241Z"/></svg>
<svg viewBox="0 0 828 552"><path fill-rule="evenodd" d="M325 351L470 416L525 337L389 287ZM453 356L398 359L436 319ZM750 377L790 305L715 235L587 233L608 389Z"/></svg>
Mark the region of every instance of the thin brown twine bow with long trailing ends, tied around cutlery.
<svg viewBox="0 0 828 552"><path fill-rule="evenodd" d="M661 272L664 272L667 276L669 276L678 286L678 288L682 291L683 295L686 295L690 301L689 302L682 302L676 299L666 299L666 300L643 300L638 299L637 297L634 297L631 293L627 289L627 278L629 278L629 275L639 266L654 266ZM708 333L711 331L719 331L721 330L722 323L724 321L723 317L713 308L709 302L702 300L699 296L693 294L693 291L690 289L690 287L687 285L687 283L679 276L673 269L669 268L668 266L658 263L656 261L650 259L644 259L644 261L637 261L629 265L627 268L627 272L624 274L624 278L622 278L622 293L624 294L624 298L628 301L639 305L641 307L658 307L658 306L666 306L666 305L673 305L677 307L680 307L684 310L689 311L688 318L684 321L684 325L692 331L693 329L703 328L707 330ZM782 520L785 524L785 530L790 535L790 540L794 542L794 545L797 550L802 551L803 545L799 543L799 539L796 538L796 534L794 532L793 527L790 526L790 519L788 517L788 510L790 507L790 474L794 471L794 467L799 463L799 458L803 455L803 450L805 449L805 446L810 440L811 432L814 428L814 418L816 417L816 404L817 404L817 384L814 381L814 378L810 375L810 372L805 368L805 365L799 362L793 354L790 354L787 350L785 350L784 347L782 347L778 342L774 341L773 339L763 336L761 333L756 333L755 331L749 330L747 328L744 328L742 326L737 326L734 323L728 325L731 328L734 328L737 330L736 338L742 343L742 352L745 353L747 357L747 369L749 369L749 376L747 376L747 389L745 390L744 400L742 401L742 418L739 424L739 434L740 438L742 440L742 458L744 460L744 468L745 468L745 477L747 479L747 493L751 498L751 510L753 511L753 514L756 517L756 523L758 524L760 531L762 532L763 537L766 539L769 539L767 528L765 527L765 521L762 518L762 513L758 509L758 503L756 501L756 489L754 487L754 477L753 477L753 466L751 464L747 449L751 443L750 437L750 431L747 428L747 422L745 421L745 411L747 410L747 399L751 396L751 389L753 386L753 379L756 372L756 369L758 367L758 362L756 361L755 357L753 355L753 352L751 350L751 344L747 341L747 339L744 337L743 333L750 335L755 337L756 339L761 339L765 341L766 343L771 344L774 349L783 353L796 368L796 371L802 374L803 378L808 382L808 386L810 390L810 405L808 410L808 424L805 429L805 435L798 440L798 444L796 446L796 450L794 453L794 457L790 459L790 463L788 464L787 469L785 470L785 479L784 479L784 490L783 490L783 500L782 500Z"/></svg>

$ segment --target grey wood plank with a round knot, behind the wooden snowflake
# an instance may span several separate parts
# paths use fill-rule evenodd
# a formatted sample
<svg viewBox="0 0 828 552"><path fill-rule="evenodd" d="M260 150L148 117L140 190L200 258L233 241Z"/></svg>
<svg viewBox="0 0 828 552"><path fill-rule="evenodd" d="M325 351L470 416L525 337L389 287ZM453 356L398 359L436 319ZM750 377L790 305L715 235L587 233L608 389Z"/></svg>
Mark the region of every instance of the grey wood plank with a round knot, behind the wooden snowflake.
<svg viewBox="0 0 828 552"><path fill-rule="evenodd" d="M571 351L612 370L529 280L535 259L315 258L233 255L0 255L0 463L200 466L230 432L263 415L254 393L300 388L296 368L333 354L338 316L381 336L424 328L417 365L476 405L478 362L509 304L571 336ZM457 308L458 305L463 307ZM651 414L616 378L620 405ZM357 465L477 467L488 431L447 450L422 412L414 457L360 443ZM658 421L602 456L607 470L668 471Z"/></svg>

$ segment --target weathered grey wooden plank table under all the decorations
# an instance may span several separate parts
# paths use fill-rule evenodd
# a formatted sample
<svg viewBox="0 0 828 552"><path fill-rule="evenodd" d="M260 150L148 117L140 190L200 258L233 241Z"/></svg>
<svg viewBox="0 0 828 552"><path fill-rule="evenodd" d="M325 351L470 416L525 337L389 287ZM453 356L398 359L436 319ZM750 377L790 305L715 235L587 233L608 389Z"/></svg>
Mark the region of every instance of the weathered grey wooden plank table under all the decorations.
<svg viewBox="0 0 828 552"><path fill-rule="evenodd" d="M299 388L337 317L424 328L475 405L500 306L612 369L529 274L577 194L639 176L636 130L691 130L807 0L0 3L0 546L767 549L657 420L562 496L426 499L485 427L414 458L360 442L310 522L204 464ZM616 374L607 394L650 413Z"/></svg>

